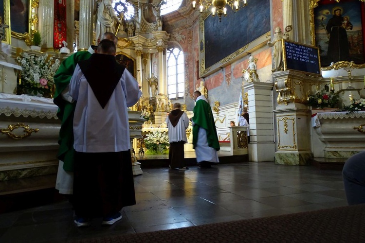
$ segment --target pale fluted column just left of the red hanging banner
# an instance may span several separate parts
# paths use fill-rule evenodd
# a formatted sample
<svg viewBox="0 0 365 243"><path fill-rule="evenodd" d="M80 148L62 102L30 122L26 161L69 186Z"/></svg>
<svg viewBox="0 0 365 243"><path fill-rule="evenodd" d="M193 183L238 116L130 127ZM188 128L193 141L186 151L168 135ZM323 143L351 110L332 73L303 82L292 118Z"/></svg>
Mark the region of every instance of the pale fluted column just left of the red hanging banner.
<svg viewBox="0 0 365 243"><path fill-rule="evenodd" d="M54 1L40 1L38 12L40 12L39 32L42 36L42 50L53 52Z"/></svg>

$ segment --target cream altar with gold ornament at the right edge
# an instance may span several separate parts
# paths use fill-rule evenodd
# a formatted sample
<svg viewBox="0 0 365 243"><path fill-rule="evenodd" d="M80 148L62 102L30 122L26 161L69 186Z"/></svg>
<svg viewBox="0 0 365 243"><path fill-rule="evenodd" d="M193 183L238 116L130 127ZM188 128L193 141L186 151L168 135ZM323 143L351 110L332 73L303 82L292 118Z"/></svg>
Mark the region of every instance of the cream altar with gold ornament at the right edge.
<svg viewBox="0 0 365 243"><path fill-rule="evenodd" d="M314 157L346 159L365 150L365 111L318 112L311 123Z"/></svg>

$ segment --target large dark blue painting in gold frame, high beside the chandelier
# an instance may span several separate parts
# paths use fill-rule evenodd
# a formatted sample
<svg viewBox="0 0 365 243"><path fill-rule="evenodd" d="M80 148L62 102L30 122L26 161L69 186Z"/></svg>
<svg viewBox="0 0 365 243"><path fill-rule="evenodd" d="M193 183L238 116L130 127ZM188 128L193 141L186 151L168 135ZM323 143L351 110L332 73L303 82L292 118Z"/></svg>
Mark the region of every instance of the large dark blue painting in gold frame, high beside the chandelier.
<svg viewBox="0 0 365 243"><path fill-rule="evenodd" d="M227 6L227 16L222 16L221 21L210 13L203 13L200 19L200 69L204 69L201 76L266 44L265 35L270 32L271 23L270 0L248 1L236 13Z"/></svg>

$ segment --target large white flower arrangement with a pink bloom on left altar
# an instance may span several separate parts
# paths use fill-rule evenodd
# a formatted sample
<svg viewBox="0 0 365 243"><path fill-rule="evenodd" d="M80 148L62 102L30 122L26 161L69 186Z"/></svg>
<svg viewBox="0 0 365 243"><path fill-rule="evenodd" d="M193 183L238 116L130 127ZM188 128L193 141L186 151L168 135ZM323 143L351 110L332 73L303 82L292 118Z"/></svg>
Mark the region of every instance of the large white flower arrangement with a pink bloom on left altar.
<svg viewBox="0 0 365 243"><path fill-rule="evenodd" d="M55 85L53 76L59 67L59 60L48 54L36 56L22 52L17 61L22 69L18 93L51 97Z"/></svg>

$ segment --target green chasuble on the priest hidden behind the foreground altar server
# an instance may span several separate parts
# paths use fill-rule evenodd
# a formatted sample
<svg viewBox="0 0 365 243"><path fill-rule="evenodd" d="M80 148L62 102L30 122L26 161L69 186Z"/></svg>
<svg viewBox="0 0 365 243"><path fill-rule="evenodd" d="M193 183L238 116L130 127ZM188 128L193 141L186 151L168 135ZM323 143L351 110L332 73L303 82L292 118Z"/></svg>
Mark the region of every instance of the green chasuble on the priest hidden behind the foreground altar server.
<svg viewBox="0 0 365 243"><path fill-rule="evenodd" d="M74 53L61 63L54 76L56 89L53 102L58 106L57 117L61 121L57 158L64 162L63 169L65 171L73 171L73 157L75 153L73 149L73 112L76 102L70 103L64 100L61 93L70 84L77 63L87 60L90 57L90 52L82 51Z"/></svg>

